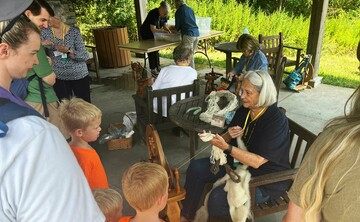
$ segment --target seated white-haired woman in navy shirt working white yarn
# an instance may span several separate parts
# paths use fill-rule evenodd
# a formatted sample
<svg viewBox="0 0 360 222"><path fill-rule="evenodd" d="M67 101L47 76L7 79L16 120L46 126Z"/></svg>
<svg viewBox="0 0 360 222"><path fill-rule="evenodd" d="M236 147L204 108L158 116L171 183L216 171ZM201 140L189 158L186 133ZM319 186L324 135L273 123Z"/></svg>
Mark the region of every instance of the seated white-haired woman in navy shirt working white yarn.
<svg viewBox="0 0 360 222"><path fill-rule="evenodd" d="M242 106L236 111L227 133L215 135L211 144L227 153L227 162L233 168L248 167L252 176L290 169L289 126L285 114L277 107L276 89L265 71L249 71L240 90ZM242 137L247 148L238 147L236 138ZM226 141L230 141L227 143ZM208 158L192 161L186 173L186 197L182 202L181 221L194 218L206 183L214 183L226 173L220 166L217 174L210 172ZM278 198L289 187L288 182L256 188L256 203ZM227 192L224 185L212 190L208 199L210 221L231 221Z"/></svg>

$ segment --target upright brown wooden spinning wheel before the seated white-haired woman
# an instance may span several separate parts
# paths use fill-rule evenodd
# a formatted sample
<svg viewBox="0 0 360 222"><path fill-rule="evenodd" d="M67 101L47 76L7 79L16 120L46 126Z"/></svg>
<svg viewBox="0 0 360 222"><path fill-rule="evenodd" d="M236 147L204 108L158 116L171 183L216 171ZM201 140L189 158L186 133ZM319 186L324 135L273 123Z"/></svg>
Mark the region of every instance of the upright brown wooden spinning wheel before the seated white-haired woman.
<svg viewBox="0 0 360 222"><path fill-rule="evenodd" d="M169 197L165 214L169 221L180 221L180 201L185 199L186 191L180 186L178 169L171 169L166 161L166 157L161 145L160 137L153 125L146 126L146 145L148 149L148 158L151 162L160 164L169 175Z"/></svg>

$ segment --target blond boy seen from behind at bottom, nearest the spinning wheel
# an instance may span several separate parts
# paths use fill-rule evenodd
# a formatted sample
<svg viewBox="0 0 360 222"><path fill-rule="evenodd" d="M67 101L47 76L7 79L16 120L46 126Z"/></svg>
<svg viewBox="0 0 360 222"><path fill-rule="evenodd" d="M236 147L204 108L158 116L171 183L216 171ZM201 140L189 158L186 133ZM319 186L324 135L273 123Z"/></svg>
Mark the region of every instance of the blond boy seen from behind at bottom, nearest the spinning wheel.
<svg viewBox="0 0 360 222"><path fill-rule="evenodd" d="M159 212L166 206L169 181L166 170L156 163L140 162L131 166L122 176L125 199L136 210L136 216L127 216L119 222L158 222Z"/></svg>

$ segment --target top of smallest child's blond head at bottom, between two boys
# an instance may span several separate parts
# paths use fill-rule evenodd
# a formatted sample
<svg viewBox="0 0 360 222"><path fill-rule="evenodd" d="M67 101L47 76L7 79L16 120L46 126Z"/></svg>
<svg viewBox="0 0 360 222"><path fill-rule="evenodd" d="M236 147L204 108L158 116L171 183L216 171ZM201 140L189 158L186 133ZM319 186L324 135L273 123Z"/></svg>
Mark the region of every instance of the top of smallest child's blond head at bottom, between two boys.
<svg viewBox="0 0 360 222"><path fill-rule="evenodd" d="M92 190L100 210L106 217L105 222L118 222L122 217L123 199L121 195L111 188Z"/></svg>

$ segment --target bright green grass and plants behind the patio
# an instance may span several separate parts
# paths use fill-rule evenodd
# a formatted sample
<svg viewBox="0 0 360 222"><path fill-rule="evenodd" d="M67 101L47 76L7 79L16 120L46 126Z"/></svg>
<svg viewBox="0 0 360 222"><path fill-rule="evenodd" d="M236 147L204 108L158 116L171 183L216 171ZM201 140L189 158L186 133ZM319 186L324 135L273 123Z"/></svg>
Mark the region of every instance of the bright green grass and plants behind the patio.
<svg viewBox="0 0 360 222"><path fill-rule="evenodd" d="M133 0L72 0L76 8L79 28L86 43L92 41L92 28L104 25L126 25L131 40L137 39L136 19ZM148 11L159 7L161 0L147 0ZM173 0L168 1L174 19ZM279 1L252 0L187 0L196 16L211 17L211 29L224 31L221 37L211 40L219 42L236 41L246 27L250 34L258 36L284 34L284 44L306 49L312 0L283 0L282 10L277 10ZM269 4L272 2L272 4ZM357 71L356 46L360 39L360 1L330 0L326 20L319 75L325 83L354 87L360 84ZM225 67L225 55L210 48L210 57L215 65ZM304 51L306 52L306 50ZM294 51L284 52L294 57ZM162 55L171 58L172 51ZM335 59L335 58L338 59ZM197 63L206 59L196 57ZM355 71L353 71L355 70ZM346 73L346 75L344 74ZM328 77L329 76L329 77ZM351 82L352 81L352 82Z"/></svg>

